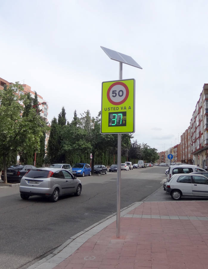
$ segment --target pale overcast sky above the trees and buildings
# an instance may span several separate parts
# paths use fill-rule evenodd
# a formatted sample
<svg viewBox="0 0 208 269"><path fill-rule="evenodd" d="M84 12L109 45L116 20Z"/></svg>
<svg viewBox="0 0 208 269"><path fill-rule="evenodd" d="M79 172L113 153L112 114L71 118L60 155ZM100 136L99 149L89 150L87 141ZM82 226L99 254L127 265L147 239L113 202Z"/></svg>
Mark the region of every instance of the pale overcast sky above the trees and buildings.
<svg viewBox="0 0 208 269"><path fill-rule="evenodd" d="M136 80L138 143L159 152L180 143L207 77L208 1L0 0L0 77L37 91L49 122L61 108L101 110L103 81L119 79L119 63L100 46L131 56Z"/></svg>

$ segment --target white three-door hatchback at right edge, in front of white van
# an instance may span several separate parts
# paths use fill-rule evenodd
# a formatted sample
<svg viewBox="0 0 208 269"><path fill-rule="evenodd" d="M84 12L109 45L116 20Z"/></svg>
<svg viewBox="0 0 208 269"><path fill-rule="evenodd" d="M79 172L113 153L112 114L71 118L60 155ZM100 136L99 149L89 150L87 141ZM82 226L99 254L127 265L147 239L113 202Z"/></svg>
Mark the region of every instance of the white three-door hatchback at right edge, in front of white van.
<svg viewBox="0 0 208 269"><path fill-rule="evenodd" d="M208 197L208 178L201 174L175 174L165 184L165 190L173 200L181 196Z"/></svg>

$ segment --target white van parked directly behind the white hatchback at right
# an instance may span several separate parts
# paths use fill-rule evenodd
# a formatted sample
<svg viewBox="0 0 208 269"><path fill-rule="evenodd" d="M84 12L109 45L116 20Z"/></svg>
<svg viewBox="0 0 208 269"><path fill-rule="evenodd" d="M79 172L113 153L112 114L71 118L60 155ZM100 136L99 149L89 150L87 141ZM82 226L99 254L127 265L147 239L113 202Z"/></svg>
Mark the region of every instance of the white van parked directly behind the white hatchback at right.
<svg viewBox="0 0 208 269"><path fill-rule="evenodd" d="M172 177L174 174L189 174L192 172L204 172L206 170L190 164L181 164L181 165L171 165L167 172L167 180Z"/></svg>

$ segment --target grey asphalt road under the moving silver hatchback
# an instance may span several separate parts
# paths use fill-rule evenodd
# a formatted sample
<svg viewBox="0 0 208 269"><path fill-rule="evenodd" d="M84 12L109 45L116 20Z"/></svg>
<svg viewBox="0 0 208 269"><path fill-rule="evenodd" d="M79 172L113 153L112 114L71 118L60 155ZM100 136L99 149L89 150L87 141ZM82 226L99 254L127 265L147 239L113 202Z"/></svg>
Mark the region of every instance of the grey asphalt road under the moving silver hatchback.
<svg viewBox="0 0 208 269"><path fill-rule="evenodd" d="M165 169L122 171L121 208L149 198L161 188ZM22 200L18 187L0 189L1 269L27 268L71 236L116 212L116 172L86 176L81 181L80 196L69 195L56 203L38 196Z"/></svg>

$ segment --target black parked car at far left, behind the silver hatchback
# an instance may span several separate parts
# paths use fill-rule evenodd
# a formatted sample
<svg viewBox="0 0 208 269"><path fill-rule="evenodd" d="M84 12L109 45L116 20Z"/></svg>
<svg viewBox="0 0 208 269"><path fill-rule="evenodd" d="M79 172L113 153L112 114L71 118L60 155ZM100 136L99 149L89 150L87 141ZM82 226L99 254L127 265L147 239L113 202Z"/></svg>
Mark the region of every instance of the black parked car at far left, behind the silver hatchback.
<svg viewBox="0 0 208 269"><path fill-rule="evenodd" d="M27 173L27 171L34 168L36 167L29 164L11 165L7 168L7 181L20 182L21 178ZM1 180L4 181L4 171L2 171Z"/></svg>

